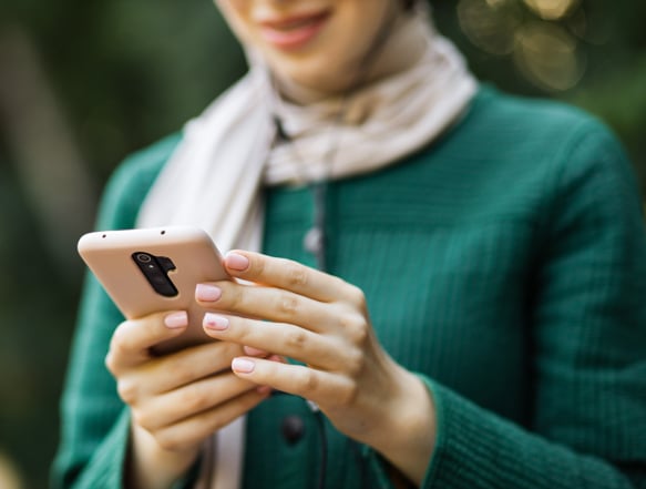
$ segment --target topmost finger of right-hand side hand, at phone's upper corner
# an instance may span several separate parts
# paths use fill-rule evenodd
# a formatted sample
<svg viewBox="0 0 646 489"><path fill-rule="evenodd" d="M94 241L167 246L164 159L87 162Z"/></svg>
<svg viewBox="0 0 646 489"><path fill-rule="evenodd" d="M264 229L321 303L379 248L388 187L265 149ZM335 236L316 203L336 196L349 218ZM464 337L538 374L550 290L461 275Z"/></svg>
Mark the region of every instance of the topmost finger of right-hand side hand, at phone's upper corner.
<svg viewBox="0 0 646 489"><path fill-rule="evenodd" d="M291 259L234 251L227 253L224 264L232 276L291 291L315 300L362 300L361 292L353 285Z"/></svg>

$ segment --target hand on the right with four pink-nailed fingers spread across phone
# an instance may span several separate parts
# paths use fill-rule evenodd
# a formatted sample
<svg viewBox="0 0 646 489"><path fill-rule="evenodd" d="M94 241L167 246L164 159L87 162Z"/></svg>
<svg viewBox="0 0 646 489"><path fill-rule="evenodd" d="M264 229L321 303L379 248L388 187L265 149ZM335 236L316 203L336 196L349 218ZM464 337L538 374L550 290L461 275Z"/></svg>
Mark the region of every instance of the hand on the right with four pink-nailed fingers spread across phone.
<svg viewBox="0 0 646 489"><path fill-rule="evenodd" d="M197 300L217 309L204 318L206 333L306 364L240 356L232 363L234 373L317 403L337 429L420 483L434 445L433 404L423 383L380 346L362 292L296 262L255 253L229 253L225 265L252 285L197 286Z"/></svg>

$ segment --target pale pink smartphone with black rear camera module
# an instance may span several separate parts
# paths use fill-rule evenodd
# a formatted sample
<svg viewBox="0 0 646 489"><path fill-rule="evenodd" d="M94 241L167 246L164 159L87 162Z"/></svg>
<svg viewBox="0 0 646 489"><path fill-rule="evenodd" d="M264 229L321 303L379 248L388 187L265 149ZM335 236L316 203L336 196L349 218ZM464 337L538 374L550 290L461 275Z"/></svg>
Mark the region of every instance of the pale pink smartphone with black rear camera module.
<svg viewBox="0 0 646 489"><path fill-rule="evenodd" d="M186 332L155 346L155 354L214 342L202 328L205 309L195 302L195 285L230 277L205 231L185 226L99 231L81 236L78 249L126 318L187 310Z"/></svg>

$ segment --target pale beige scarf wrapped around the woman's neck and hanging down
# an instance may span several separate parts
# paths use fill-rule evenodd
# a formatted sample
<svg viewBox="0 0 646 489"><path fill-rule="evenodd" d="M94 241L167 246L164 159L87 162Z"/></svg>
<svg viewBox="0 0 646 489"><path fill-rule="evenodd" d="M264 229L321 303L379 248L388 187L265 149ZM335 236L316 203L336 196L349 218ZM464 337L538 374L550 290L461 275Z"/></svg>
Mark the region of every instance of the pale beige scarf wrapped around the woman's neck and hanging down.
<svg viewBox="0 0 646 489"><path fill-rule="evenodd" d="M411 16L393 34L406 35L407 42L423 43L419 62L343 99L290 104L278 99L267 70L252 63L242 81L186 125L143 203L137 226L196 225L223 252L259 251L263 185L372 172L437 139L464 114L476 82L425 13ZM274 115L281 120L290 144L273 147ZM331 141L335 157L328 161ZM244 459L244 417L214 438L214 478L202 480L199 487L236 489Z"/></svg>

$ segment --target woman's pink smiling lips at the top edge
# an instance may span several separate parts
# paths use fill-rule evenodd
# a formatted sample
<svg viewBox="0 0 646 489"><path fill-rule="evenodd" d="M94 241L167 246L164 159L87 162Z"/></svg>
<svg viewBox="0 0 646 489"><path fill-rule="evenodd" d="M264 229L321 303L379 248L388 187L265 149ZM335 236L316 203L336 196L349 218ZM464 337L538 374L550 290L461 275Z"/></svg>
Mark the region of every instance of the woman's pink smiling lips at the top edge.
<svg viewBox="0 0 646 489"><path fill-rule="evenodd" d="M260 22L260 33L278 49L295 50L316 38L329 17L329 12L318 12L265 20Z"/></svg>

